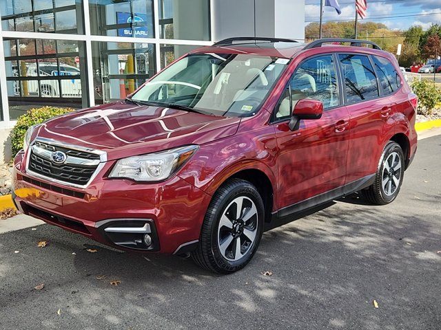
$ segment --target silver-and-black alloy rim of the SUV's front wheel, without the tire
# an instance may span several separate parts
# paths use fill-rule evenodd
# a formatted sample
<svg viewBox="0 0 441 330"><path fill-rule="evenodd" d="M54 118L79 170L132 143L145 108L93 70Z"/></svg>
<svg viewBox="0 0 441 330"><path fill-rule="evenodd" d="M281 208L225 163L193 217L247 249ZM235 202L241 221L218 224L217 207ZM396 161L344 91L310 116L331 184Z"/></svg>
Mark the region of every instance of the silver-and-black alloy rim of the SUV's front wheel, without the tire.
<svg viewBox="0 0 441 330"><path fill-rule="evenodd" d="M258 212L252 199L236 197L223 211L218 224L218 248L229 261L238 261L256 240Z"/></svg>

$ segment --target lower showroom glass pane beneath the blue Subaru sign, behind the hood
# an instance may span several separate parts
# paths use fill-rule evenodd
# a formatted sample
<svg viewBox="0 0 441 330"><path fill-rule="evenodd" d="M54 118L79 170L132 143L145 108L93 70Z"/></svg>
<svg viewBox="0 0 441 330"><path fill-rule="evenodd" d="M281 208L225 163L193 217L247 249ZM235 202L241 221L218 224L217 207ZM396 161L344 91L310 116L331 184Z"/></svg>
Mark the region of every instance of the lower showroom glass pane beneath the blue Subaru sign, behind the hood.
<svg viewBox="0 0 441 330"><path fill-rule="evenodd" d="M95 100L125 98L155 73L154 45L92 43Z"/></svg>

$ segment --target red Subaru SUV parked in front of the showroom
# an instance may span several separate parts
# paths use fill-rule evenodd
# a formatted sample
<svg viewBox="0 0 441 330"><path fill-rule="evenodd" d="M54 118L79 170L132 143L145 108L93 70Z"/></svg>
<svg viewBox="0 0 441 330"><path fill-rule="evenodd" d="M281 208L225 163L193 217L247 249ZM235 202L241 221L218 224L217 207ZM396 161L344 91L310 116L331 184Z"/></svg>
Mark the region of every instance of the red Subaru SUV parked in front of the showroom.
<svg viewBox="0 0 441 330"><path fill-rule="evenodd" d="M115 248L234 272L294 214L353 192L393 201L416 106L394 56L369 41L227 39L125 100L31 127L14 201Z"/></svg>

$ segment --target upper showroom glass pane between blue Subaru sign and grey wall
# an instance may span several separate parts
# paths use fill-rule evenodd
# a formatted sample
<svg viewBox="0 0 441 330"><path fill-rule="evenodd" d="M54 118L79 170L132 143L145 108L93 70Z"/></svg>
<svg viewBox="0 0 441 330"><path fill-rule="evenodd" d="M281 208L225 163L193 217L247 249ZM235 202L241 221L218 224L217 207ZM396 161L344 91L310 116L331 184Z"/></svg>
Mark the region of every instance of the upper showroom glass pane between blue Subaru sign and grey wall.
<svg viewBox="0 0 441 330"><path fill-rule="evenodd" d="M161 38L203 41L210 39L209 0L158 2Z"/></svg>

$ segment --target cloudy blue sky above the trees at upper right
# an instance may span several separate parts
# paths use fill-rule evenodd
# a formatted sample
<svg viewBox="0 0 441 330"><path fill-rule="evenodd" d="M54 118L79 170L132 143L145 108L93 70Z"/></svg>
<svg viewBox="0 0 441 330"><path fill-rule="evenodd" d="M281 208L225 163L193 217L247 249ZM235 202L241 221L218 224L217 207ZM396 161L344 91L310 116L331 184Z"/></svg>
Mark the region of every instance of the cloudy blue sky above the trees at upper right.
<svg viewBox="0 0 441 330"><path fill-rule="evenodd" d="M305 21L320 17L320 0L306 0ZM355 0L338 0L342 13L325 7L323 22L355 19ZM411 25L422 25L424 30L432 23L441 24L441 0L367 0L367 17L361 21L384 23L392 30L407 30Z"/></svg>

